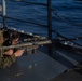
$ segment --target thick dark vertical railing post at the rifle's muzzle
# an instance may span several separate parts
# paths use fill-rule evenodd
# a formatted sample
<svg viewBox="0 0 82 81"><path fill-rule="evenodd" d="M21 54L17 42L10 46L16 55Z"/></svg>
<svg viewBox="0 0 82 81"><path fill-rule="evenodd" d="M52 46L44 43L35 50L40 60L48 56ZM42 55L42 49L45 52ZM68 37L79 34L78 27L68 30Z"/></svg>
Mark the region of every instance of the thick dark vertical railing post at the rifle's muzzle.
<svg viewBox="0 0 82 81"><path fill-rule="evenodd" d="M47 39L52 40L52 0L47 0ZM49 55L52 56L52 44L49 45Z"/></svg>

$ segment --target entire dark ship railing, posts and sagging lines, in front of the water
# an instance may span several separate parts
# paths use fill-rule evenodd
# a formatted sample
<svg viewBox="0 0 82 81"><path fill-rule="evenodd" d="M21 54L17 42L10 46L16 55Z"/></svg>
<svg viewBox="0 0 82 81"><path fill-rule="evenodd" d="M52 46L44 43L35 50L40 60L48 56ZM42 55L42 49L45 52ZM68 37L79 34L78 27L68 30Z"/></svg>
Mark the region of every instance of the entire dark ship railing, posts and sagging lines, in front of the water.
<svg viewBox="0 0 82 81"><path fill-rule="evenodd" d="M2 0L2 1L5 1L5 0ZM25 2L25 3L47 6L47 25L43 25L43 24L39 24L39 23L35 23L35 22L23 21L23 19L18 19L18 18L6 16L5 13L4 13L5 12L5 9L4 9L3 15L0 14L0 16L3 17L3 27L4 28L6 27L5 21L6 21L6 18L9 18L9 19L14 19L14 21L23 22L23 23L29 23L29 24L46 27L47 28L47 39L50 39L50 40L52 40L52 33L55 33L57 37L65 38L65 40L69 40L69 41L72 40L72 42L73 42L73 40L82 39L82 37L76 37L76 38L69 39L69 38L66 38L65 36L60 35L57 30L52 29L52 13L54 13L54 15L56 15L62 21L64 21L66 23L69 23L69 24L71 24L73 26L82 26L82 24L73 24L73 23L67 21L65 17L60 16L56 12L56 10L52 9L52 0L46 0L46 1L47 1L46 3L40 3L40 2L29 2L29 1L22 0L22 2ZM5 4L5 2L4 2L4 4ZM5 5L4 5L4 8L5 8Z"/></svg>

